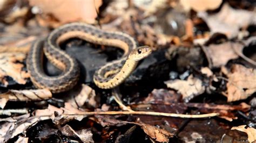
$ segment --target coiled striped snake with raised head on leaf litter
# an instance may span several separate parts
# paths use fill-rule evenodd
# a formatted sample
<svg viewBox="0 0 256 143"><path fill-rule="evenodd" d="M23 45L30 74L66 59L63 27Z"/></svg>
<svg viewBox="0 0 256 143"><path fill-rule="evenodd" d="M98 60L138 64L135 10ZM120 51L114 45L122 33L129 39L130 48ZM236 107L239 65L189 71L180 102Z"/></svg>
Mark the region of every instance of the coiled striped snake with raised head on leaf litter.
<svg viewBox="0 0 256 143"><path fill-rule="evenodd" d="M92 44L123 49L120 59L107 62L95 71L93 82L102 89L117 87L130 76L138 62L152 52L149 46L138 47L137 41L129 34L105 31L85 23L70 23L50 32L46 38L33 42L26 59L30 80L39 89L49 89L52 93L72 89L79 80L80 68L75 57L60 48L60 44L71 38L79 38ZM57 76L49 76L43 67L44 56L62 70Z"/></svg>

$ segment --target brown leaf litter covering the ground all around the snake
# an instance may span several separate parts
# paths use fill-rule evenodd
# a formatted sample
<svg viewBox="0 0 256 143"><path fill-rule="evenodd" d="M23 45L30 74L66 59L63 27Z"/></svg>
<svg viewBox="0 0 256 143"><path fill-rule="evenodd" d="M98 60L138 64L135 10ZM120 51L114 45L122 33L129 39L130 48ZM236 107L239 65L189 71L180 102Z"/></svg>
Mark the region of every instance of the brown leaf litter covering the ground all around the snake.
<svg viewBox="0 0 256 143"><path fill-rule="evenodd" d="M255 3L2 3L0 142L255 141ZM119 87L118 100L83 79L59 95L31 85L25 68L29 46L19 47L70 22L129 33L154 49ZM86 45L68 41L66 50L79 44Z"/></svg>

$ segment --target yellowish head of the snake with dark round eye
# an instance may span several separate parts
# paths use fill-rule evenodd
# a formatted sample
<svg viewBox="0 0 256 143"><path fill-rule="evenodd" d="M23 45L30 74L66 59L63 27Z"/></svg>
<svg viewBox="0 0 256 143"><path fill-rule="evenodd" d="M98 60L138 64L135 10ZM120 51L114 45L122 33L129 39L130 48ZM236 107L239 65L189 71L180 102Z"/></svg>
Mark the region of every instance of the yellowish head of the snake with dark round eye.
<svg viewBox="0 0 256 143"><path fill-rule="evenodd" d="M134 61L139 61L152 53L152 49L149 46L142 46L136 49L133 49L129 55L129 59Z"/></svg>

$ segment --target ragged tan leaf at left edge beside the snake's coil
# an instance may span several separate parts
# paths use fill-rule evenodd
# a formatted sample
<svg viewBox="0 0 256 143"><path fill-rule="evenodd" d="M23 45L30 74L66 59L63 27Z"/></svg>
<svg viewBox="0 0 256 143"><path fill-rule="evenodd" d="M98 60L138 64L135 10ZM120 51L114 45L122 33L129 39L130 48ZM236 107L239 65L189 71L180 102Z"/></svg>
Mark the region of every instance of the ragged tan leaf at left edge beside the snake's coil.
<svg viewBox="0 0 256 143"><path fill-rule="evenodd" d="M29 74L22 70L23 64L17 63L22 62L25 58L24 53L0 53L0 82L5 87L9 84L5 76L12 77L19 84L26 83L25 78L28 78Z"/></svg>

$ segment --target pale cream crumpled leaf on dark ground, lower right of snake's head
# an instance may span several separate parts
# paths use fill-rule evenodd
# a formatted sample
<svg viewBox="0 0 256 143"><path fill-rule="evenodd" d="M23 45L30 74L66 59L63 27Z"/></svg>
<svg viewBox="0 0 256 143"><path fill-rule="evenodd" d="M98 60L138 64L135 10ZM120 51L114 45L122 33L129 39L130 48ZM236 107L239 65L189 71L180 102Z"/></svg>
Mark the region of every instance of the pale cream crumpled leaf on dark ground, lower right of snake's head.
<svg viewBox="0 0 256 143"><path fill-rule="evenodd" d="M178 90L183 96L183 99L189 101L193 97L203 94L205 87L202 85L202 81L193 75L190 75L187 80L170 80L166 81L165 84L168 88Z"/></svg>

